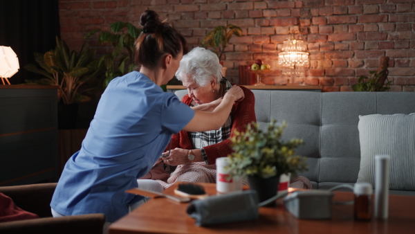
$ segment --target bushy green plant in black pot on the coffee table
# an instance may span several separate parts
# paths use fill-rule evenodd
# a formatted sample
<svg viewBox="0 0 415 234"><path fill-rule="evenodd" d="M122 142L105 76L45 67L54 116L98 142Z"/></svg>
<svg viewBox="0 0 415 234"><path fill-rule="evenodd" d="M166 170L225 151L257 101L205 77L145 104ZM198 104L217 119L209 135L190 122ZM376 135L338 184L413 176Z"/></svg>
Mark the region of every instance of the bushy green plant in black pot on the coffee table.
<svg viewBox="0 0 415 234"><path fill-rule="evenodd" d="M247 176L250 188L257 190L260 201L277 194L279 176L306 170L306 158L295 156L302 139L282 141L286 122L271 120L266 131L258 123L250 123L245 132L231 138L232 154L228 155L230 175Z"/></svg>

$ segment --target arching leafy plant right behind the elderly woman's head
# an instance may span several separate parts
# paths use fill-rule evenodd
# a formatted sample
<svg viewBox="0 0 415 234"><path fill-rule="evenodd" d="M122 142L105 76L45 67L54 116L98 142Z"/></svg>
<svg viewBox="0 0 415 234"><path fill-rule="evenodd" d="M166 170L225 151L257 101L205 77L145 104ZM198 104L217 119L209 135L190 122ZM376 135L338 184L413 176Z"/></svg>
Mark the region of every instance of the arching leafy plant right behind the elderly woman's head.
<svg viewBox="0 0 415 234"><path fill-rule="evenodd" d="M225 53L225 48L229 45L229 41L233 35L241 37L242 29L233 24L217 26L203 38L202 46L205 48L212 48L213 52L218 55L219 61L221 61L224 59L222 55ZM221 65L223 66L223 62L221 62ZM223 76L225 76L225 71L226 68L222 71Z"/></svg>

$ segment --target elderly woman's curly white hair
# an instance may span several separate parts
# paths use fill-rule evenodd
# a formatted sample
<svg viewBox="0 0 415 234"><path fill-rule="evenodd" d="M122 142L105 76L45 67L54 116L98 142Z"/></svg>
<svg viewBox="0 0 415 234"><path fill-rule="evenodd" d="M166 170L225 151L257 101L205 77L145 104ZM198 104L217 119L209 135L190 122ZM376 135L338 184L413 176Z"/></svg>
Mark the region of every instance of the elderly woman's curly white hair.
<svg viewBox="0 0 415 234"><path fill-rule="evenodd" d="M219 64L218 56L205 48L193 48L183 55L176 71L177 80L182 80L183 77L193 79L201 87L208 84L212 77L219 83L222 79L222 65Z"/></svg>

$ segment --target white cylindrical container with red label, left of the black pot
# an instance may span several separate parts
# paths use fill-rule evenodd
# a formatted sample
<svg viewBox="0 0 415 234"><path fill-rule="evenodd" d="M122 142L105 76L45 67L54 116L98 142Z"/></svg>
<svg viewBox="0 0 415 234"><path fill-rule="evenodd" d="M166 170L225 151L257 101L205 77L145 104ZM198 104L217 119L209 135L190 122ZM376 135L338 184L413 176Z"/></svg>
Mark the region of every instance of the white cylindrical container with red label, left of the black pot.
<svg viewBox="0 0 415 234"><path fill-rule="evenodd" d="M228 165L228 157L216 159L216 191L220 193L242 190L241 178L230 177L229 169L225 168Z"/></svg>

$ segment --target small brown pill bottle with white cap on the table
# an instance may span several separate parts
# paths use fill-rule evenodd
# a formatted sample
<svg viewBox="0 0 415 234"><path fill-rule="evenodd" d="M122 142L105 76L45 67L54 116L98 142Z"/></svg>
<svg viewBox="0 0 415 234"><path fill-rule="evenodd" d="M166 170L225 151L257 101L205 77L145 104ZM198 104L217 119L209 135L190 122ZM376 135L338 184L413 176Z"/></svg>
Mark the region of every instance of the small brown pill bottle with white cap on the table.
<svg viewBox="0 0 415 234"><path fill-rule="evenodd" d="M372 216L372 193L371 183L356 183L354 193L354 218L360 221L369 221Z"/></svg>

